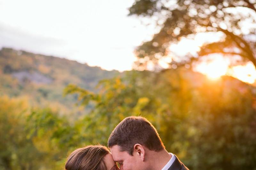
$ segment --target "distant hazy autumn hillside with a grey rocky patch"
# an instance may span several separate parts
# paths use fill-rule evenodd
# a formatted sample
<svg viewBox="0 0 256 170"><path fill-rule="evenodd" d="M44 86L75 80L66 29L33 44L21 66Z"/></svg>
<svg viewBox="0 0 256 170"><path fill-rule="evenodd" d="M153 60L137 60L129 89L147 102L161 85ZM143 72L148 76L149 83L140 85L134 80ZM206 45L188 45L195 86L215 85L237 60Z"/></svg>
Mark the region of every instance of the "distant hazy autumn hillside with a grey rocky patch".
<svg viewBox="0 0 256 170"><path fill-rule="evenodd" d="M0 51L0 95L25 97L32 106L54 106L62 113L77 112L76 96L62 95L68 84L95 91L99 80L119 74L53 56L11 48Z"/></svg>

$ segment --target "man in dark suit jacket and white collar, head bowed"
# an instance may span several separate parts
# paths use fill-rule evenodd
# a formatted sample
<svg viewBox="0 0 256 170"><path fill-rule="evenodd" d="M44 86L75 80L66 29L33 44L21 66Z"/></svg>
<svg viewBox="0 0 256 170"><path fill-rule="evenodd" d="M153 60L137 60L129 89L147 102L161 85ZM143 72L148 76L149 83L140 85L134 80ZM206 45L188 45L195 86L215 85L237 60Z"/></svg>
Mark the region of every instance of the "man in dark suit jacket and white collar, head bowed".
<svg viewBox="0 0 256 170"><path fill-rule="evenodd" d="M188 170L176 155L165 150L155 127L140 116L120 122L108 139L108 147L121 170Z"/></svg>

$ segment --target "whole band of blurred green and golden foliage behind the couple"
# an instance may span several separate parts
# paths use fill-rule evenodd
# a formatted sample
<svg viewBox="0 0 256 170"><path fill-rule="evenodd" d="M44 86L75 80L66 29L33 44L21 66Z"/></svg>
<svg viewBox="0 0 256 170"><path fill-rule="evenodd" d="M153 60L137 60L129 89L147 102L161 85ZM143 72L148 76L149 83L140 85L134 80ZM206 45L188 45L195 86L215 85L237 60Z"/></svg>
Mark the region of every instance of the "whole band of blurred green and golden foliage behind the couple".
<svg viewBox="0 0 256 170"><path fill-rule="evenodd" d="M179 67L130 71L101 80L97 91L68 85L65 95L90 112L73 119L26 99L0 97L0 169L63 169L77 147L107 144L125 117L154 124L166 149L191 170L255 169L256 88L232 77L210 81Z"/></svg>

